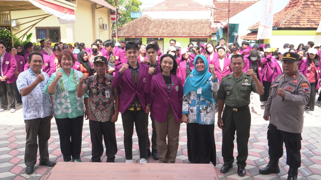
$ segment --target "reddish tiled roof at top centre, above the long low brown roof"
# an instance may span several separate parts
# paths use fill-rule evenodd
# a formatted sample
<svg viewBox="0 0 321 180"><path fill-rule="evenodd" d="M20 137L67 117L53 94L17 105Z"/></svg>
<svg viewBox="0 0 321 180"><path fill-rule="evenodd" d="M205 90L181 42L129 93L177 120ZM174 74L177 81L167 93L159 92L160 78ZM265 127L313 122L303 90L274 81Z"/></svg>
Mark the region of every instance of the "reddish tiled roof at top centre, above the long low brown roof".
<svg viewBox="0 0 321 180"><path fill-rule="evenodd" d="M193 0L166 0L144 11L204 11L209 8Z"/></svg>

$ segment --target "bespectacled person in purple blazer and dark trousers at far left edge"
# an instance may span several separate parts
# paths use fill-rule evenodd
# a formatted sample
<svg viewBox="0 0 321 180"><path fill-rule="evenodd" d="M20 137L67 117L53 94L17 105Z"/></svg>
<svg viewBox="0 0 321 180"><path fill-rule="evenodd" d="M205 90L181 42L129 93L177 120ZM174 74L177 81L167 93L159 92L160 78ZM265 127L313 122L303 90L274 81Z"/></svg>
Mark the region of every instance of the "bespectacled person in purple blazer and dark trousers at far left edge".
<svg viewBox="0 0 321 180"><path fill-rule="evenodd" d="M0 102L1 109L0 112L8 110L8 99L7 93L10 101L10 112L15 112L15 99L13 93L13 86L16 85L17 77L14 74L16 71L16 60L14 56L5 51L7 48L7 43L5 41L0 41L0 55L1 55L1 74L0 74Z"/></svg>

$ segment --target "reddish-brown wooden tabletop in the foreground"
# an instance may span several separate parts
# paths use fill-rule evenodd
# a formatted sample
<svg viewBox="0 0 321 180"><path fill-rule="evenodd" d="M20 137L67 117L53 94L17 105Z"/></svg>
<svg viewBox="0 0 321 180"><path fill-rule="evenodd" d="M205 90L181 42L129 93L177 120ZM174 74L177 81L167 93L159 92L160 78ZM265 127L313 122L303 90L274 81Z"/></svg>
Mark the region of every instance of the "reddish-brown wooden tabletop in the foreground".
<svg viewBox="0 0 321 180"><path fill-rule="evenodd" d="M213 164L58 162L45 180L219 180Z"/></svg>

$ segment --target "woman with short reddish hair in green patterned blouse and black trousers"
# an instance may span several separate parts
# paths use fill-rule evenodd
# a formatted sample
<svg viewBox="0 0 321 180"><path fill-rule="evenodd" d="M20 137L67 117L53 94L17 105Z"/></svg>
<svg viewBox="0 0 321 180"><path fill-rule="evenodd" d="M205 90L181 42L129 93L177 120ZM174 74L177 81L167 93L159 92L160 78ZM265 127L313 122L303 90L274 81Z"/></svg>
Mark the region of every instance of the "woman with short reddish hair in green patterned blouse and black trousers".
<svg viewBox="0 0 321 180"><path fill-rule="evenodd" d="M82 72L72 69L75 57L69 49L60 53L58 63L61 68L51 75L44 91L47 95L53 95L54 117L64 161L82 162L80 159L82 125L84 114L88 117L88 94L77 97L77 87Z"/></svg>

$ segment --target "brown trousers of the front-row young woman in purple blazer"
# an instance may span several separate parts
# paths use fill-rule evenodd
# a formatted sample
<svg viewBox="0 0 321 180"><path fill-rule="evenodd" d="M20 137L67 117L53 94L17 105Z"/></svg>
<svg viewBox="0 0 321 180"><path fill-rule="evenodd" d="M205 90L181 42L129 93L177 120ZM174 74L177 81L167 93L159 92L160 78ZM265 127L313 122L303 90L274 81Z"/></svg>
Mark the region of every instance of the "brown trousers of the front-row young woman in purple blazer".
<svg viewBox="0 0 321 180"><path fill-rule="evenodd" d="M178 149L180 123L176 121L172 107L169 105L164 122L154 120L157 134L159 163L175 163ZM166 143L166 137L168 143Z"/></svg>

